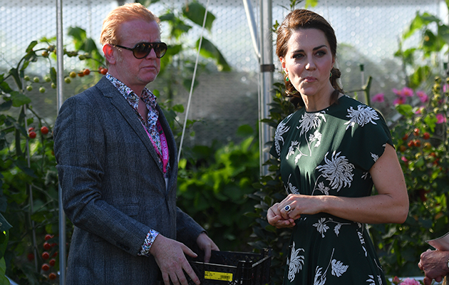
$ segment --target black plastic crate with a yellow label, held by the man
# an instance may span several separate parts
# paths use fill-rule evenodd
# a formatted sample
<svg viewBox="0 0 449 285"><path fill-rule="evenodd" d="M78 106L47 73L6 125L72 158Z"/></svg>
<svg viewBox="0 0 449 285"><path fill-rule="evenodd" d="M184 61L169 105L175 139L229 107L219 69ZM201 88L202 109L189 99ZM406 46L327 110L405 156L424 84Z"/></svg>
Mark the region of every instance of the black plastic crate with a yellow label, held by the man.
<svg viewBox="0 0 449 285"><path fill-rule="evenodd" d="M271 252L262 254L246 252L212 251L210 261L202 257L190 259L189 263L201 281L201 285L264 285L269 283ZM190 278L190 285L195 285Z"/></svg>

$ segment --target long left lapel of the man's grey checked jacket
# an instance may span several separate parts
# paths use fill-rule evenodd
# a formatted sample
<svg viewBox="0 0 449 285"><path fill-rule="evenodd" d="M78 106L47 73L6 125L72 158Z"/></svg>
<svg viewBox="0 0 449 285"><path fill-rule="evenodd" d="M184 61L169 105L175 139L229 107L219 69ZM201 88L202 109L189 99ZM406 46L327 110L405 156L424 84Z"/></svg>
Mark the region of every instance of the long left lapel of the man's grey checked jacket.
<svg viewBox="0 0 449 285"><path fill-rule="evenodd" d="M142 140L143 145L145 145L148 152L150 152L151 157L153 157L153 160L155 160L156 165L158 165L160 172L163 173L162 167L159 163L159 157L155 151L155 148L153 147L153 143L148 137L148 133L145 131L142 123L140 123L140 120L137 118L137 115L133 111L133 108L130 106L130 104L126 101L123 95L118 92L117 88L115 88L115 86L113 86L112 83L108 81L108 78L101 78L101 80L98 81L97 86L101 90L103 95L105 95L105 97L110 98L110 103L118 110L118 112L120 112L121 115L123 115L123 118L128 123L128 125L130 125L130 127L138 135L140 140Z"/></svg>

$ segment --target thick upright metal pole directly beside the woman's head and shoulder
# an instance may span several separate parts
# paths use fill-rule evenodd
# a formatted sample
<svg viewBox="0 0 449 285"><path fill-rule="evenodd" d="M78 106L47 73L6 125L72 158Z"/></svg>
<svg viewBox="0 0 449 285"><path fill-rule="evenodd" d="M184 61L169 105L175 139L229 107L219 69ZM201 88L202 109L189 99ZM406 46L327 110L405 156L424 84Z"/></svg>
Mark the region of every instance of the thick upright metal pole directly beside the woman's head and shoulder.
<svg viewBox="0 0 449 285"><path fill-rule="evenodd" d="M272 0L262 0L261 5L261 33L260 33L260 73L262 81L262 92L259 98L259 122L269 116L269 104L272 103L273 91L273 41L272 41ZM269 145L272 140L272 129L269 125L259 123L259 147L260 147L260 170L261 175L268 175L268 167L262 166L269 160Z"/></svg>

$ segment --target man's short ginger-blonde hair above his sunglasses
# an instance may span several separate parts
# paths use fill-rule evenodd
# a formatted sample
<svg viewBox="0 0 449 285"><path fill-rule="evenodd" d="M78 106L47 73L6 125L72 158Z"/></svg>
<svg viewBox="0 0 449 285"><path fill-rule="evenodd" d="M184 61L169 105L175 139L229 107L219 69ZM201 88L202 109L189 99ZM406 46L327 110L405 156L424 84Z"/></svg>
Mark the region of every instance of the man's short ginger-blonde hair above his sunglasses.
<svg viewBox="0 0 449 285"><path fill-rule="evenodd" d="M103 27L101 28L100 43L102 45L110 43L113 45L120 44L120 38L118 38L118 28L126 21L132 20L144 20L155 21L160 23L160 19L146 9L140 3L130 3L110 11L108 16L103 21Z"/></svg>

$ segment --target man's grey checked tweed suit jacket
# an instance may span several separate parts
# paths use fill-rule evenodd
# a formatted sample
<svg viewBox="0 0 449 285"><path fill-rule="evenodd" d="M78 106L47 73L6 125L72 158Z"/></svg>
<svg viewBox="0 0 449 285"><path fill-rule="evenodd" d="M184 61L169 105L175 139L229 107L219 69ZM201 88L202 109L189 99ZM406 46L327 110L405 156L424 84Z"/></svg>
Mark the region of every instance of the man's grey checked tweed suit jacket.
<svg viewBox="0 0 449 285"><path fill-rule="evenodd" d="M176 207L175 138L165 187L153 144L133 108L102 78L68 98L53 130L63 208L74 230L66 284L157 284L153 257L137 254L150 229L192 247L204 231Z"/></svg>

